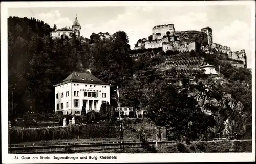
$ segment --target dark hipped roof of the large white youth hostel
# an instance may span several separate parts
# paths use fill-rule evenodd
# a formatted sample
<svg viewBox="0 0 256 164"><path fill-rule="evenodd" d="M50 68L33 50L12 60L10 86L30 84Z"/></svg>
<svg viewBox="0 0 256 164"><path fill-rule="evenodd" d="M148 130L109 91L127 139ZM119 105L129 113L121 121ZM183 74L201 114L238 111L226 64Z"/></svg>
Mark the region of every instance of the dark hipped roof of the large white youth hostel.
<svg viewBox="0 0 256 164"><path fill-rule="evenodd" d="M104 83L97 77L89 73L81 73L81 72L73 72L67 78L65 78L61 83L54 85L54 87L66 84L69 82L77 82L77 83L89 83L89 84L102 84L102 85L109 85Z"/></svg>

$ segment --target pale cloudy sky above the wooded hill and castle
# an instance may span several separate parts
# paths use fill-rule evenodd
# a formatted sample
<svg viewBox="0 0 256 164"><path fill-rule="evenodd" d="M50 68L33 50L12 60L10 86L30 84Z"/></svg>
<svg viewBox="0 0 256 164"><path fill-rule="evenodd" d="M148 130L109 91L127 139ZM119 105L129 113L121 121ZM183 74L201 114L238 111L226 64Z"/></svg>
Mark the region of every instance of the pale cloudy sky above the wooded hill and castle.
<svg viewBox="0 0 256 164"><path fill-rule="evenodd" d="M172 23L176 31L201 31L209 26L214 43L229 46L232 51L245 49L247 67L251 67L254 42L249 5L8 8L8 16L35 17L57 28L71 27L76 15L82 36L122 30L132 49L138 39L152 34L155 25Z"/></svg>

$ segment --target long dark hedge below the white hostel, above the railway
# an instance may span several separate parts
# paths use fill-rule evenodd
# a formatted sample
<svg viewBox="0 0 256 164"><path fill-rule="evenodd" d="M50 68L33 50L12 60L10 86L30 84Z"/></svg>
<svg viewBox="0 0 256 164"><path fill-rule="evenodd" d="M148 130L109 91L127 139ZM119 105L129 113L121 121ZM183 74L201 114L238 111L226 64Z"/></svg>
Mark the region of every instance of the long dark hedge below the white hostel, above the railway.
<svg viewBox="0 0 256 164"><path fill-rule="evenodd" d="M13 127L10 132L12 143L41 140L74 139L74 138L116 138L118 127L106 124L69 125L66 127L26 129Z"/></svg>

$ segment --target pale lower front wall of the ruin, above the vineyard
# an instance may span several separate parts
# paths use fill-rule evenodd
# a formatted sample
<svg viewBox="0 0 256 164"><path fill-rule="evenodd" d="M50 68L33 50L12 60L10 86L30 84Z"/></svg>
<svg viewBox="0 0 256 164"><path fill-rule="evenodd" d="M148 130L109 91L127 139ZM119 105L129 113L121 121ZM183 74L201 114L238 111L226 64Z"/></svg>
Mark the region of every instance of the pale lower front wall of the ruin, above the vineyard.
<svg viewBox="0 0 256 164"><path fill-rule="evenodd" d="M185 40L177 40L177 41L169 41L163 43L163 51L167 50L172 51L196 51L196 41L193 39L185 39Z"/></svg>

